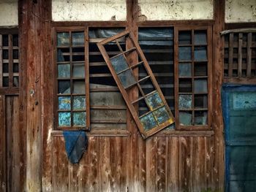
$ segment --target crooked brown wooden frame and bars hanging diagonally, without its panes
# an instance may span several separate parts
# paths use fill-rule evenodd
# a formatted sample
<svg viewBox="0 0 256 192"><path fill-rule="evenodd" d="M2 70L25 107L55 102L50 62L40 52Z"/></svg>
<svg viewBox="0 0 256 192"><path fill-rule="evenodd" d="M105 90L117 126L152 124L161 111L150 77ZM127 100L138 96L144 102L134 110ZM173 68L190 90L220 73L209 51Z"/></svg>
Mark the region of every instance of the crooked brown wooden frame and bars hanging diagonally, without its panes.
<svg viewBox="0 0 256 192"><path fill-rule="evenodd" d="M117 39L120 39L122 37L129 37L129 39L131 40L132 45L134 47L129 49L129 50L125 50L125 51L121 50L120 45L118 45L118 40ZM167 112L168 120L165 120L165 123L158 123L158 124L161 124L161 125L154 126L153 128L149 128L148 131L146 131L146 129L143 128L143 125L140 122L140 118L141 117L139 118L138 110L135 110L135 107L134 107L133 104L135 104L140 99L146 99L146 96L149 96L149 94L148 95L147 94L144 95L144 93L142 91L142 88L139 85L139 82L142 81L143 79L135 80L135 82L132 83L132 85L128 85L126 88L124 88L124 85L122 84L121 79L118 78L118 74L116 73L116 70L113 68L113 65L111 64L109 55L108 55L108 53L107 53L107 51L105 50L105 47L104 47L104 45L106 45L106 44L108 44L110 42L113 42L113 41L116 41L116 44L117 44L117 46L119 47L119 49L121 51L121 53L119 55L123 55L124 59L126 60L127 66L129 67L128 71L132 72L132 69L138 67L140 64L143 64L143 66L146 68L146 71L148 73L148 77L147 78L151 80L152 84L154 85L154 89L159 93L159 97L160 97L160 99L162 100L162 103L163 103L161 105L161 107L159 107L159 108L165 107L165 110ZM162 95L162 91L159 88L157 80L155 79L154 74L153 74L153 72L151 71L151 69L150 69L150 67L148 65L148 62L146 61L146 58L143 55L143 52L140 49L140 46L138 45L138 42L135 41L135 37L133 37L133 35L129 31L124 31L124 32L121 32L120 34L117 34L117 35L115 35L113 37L110 37L108 39L103 40L102 42L97 43L97 45L98 45L99 50L102 53L103 57L105 58L105 62L108 64L108 68L110 69L110 72L113 75L114 80L116 81L116 83L118 85L118 88L121 91L121 93L122 93L122 95L124 97L124 100L127 103L127 107L129 108L129 111L131 112L132 117L135 120L135 123L137 124L137 126L138 126L138 128L140 130L140 134L143 136L143 139L146 139L147 137L150 137L151 135L157 133L158 131L162 130L163 128L165 128L167 126L170 126L170 124L174 123L174 118L173 118L172 112L170 111L170 108L168 107L167 102L165 101L165 97ZM133 50L137 51L138 56L141 59L141 62L138 62L138 63L135 63L135 64L134 64L134 61L132 61L132 64L130 62L127 62L127 58L125 56L125 53L128 54L128 53L132 52ZM127 70L127 69L125 69L125 70ZM125 70L123 70L123 71L125 71ZM140 90L140 93L142 94L142 97L138 98L135 101L130 101L126 89L129 88L129 87L132 87L133 85L135 85L135 86L137 85L138 86L138 88ZM148 106L148 108L151 109L150 106ZM155 110L158 110L159 108L156 108ZM153 111L154 110L150 110L148 114L150 114Z"/></svg>

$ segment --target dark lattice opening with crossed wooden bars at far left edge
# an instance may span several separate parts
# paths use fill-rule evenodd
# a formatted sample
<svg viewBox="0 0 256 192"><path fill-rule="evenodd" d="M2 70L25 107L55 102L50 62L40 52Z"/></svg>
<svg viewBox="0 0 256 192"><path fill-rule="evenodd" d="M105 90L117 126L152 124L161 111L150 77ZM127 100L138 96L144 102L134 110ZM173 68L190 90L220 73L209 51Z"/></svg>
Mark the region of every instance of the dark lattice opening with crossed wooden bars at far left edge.
<svg viewBox="0 0 256 192"><path fill-rule="evenodd" d="M0 31L0 87L19 86L19 47L18 33Z"/></svg>

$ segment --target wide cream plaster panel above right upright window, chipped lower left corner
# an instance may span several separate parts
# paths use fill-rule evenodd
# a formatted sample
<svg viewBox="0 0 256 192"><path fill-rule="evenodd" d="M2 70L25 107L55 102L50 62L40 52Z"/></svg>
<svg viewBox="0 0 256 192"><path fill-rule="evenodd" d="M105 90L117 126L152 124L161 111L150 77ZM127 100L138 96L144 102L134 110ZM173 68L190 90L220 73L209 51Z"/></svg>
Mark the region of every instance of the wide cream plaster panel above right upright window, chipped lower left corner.
<svg viewBox="0 0 256 192"><path fill-rule="evenodd" d="M213 0L139 0L139 20L213 19Z"/></svg>

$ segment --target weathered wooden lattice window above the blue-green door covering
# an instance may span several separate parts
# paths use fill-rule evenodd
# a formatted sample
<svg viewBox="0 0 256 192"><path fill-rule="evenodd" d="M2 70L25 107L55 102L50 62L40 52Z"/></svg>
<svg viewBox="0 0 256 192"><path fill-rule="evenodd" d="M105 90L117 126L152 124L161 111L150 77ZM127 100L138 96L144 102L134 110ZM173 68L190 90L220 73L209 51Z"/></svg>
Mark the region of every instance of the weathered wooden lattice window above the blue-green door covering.
<svg viewBox="0 0 256 192"><path fill-rule="evenodd" d="M256 83L256 64L252 69L252 59L256 61L255 55L252 55L252 49L256 51L256 28L235 28L221 32L225 37L225 55L224 55L224 82L236 82L241 84ZM237 53L234 50L237 49ZM243 53L243 50L246 53ZM246 59L246 62L243 60ZM236 62L234 62L236 61ZM235 74L237 70L237 74ZM255 74L252 76L252 72Z"/></svg>

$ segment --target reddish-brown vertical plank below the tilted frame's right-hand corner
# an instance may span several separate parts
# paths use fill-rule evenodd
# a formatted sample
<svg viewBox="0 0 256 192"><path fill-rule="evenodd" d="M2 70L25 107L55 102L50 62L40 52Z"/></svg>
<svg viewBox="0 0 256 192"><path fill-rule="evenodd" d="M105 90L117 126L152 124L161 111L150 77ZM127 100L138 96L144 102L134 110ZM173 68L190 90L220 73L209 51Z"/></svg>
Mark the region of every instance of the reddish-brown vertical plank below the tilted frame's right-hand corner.
<svg viewBox="0 0 256 192"><path fill-rule="evenodd" d="M167 190L178 192L178 164L179 164L179 142L178 137L168 138L167 147Z"/></svg>

